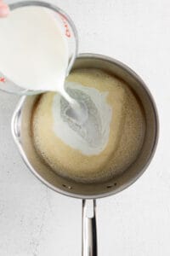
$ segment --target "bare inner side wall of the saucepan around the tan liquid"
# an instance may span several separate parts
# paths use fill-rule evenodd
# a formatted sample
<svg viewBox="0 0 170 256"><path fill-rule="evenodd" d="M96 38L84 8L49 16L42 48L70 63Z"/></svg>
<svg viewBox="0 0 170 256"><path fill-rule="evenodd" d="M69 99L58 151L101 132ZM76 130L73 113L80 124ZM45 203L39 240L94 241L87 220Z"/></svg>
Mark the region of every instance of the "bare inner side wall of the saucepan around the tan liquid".
<svg viewBox="0 0 170 256"><path fill-rule="evenodd" d="M40 158L39 154L37 154L37 149L33 142L31 130L32 113L41 96L27 96L23 103L20 119L20 141L25 151L26 158L33 167L33 172L36 173L44 183L65 195L95 198L111 195L125 189L144 172L144 167L149 162L156 143L156 113L150 99L150 94L144 88L142 82L125 67L120 66L119 63L98 57L80 57L77 59L73 69L78 70L81 68L99 68L106 73L116 76L118 79L126 81L140 102L145 119L144 143L140 149L140 153L133 161L133 164L128 166L126 172L119 173L114 177L104 177L103 179L88 183L62 177L54 172L52 168Z"/></svg>

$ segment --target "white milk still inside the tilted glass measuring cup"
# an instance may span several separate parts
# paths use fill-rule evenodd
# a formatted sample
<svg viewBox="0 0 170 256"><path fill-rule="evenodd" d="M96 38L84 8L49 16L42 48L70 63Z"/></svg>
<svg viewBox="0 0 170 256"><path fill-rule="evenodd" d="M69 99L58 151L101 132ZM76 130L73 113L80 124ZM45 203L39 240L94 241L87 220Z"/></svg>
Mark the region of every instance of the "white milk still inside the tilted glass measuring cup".
<svg viewBox="0 0 170 256"><path fill-rule="evenodd" d="M0 70L20 87L65 94L68 58L65 35L48 9L23 7L0 20Z"/></svg>

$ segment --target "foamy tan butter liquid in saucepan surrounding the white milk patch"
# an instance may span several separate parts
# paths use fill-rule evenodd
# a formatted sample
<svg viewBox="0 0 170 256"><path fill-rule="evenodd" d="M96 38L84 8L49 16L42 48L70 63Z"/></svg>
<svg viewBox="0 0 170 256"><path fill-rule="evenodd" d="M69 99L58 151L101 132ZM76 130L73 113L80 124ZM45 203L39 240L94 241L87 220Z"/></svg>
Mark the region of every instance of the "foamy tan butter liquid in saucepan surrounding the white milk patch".
<svg viewBox="0 0 170 256"><path fill-rule="evenodd" d="M75 122L74 129L71 129L68 125L68 119L71 116L69 113L70 108L67 108L64 102L64 109L68 115L65 117L65 125L69 126L68 130L74 136L70 137L69 140L76 138L75 148L65 143L65 137L68 136L67 131L64 133L62 128L63 131L60 131L63 132L61 138L56 134L55 130L55 128L58 129L56 114L60 116L60 110L58 113L56 113L56 110L54 111L56 94L48 92L40 96L32 113L31 131L37 154L61 177L81 183L96 183L110 180L112 177L116 177L116 175L120 175L127 170L128 166L138 156L143 145L145 119L140 103L133 94L133 91L130 90L128 84L99 69L76 69L71 72L67 81L75 84L75 86L82 84L83 87L87 88L88 92L90 91L90 94L91 90L89 89L91 88L98 91L100 95L94 92L93 96L96 96L96 98L92 100L95 104L99 104L100 107L96 105L96 108L102 109L99 112L100 114L103 111L102 119L105 119L105 111L99 102L106 102L107 107L111 106L112 114L108 142L104 150L99 154L95 153L99 150L99 145L104 144L101 142L97 144L95 140L92 140L93 147L89 146L88 143L85 143L85 146L83 146L83 150L84 148L90 148L90 152L94 151L94 154L89 154L89 151L88 154L84 154L81 150L75 149L75 145L78 148L78 142L82 143L84 140L83 137L80 137L74 131L75 125L77 125L77 118L71 122L71 124ZM71 87L67 86L67 90L78 90L75 86L73 88L73 84ZM83 93L88 94L86 90L83 90ZM64 109L62 110L63 113L65 113ZM86 121L86 115L83 118L81 119L82 123ZM99 125L98 118L95 119L95 122ZM103 120L103 122L100 131L105 131L105 121ZM78 129L80 130L80 128ZM98 133L98 136L100 134Z"/></svg>

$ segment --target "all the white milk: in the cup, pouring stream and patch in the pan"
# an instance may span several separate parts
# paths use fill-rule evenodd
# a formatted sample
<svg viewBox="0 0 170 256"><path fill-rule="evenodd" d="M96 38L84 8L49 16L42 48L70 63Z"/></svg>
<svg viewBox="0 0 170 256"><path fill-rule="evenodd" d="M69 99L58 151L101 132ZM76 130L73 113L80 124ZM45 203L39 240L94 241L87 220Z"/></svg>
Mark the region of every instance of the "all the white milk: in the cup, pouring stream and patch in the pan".
<svg viewBox="0 0 170 256"><path fill-rule="evenodd" d="M65 141L65 129L65 143L82 154L99 154L109 138L111 108L106 93L65 83L69 50L52 13L35 6L14 9L0 20L0 34L1 72L26 90L59 92L53 107L56 135Z"/></svg>

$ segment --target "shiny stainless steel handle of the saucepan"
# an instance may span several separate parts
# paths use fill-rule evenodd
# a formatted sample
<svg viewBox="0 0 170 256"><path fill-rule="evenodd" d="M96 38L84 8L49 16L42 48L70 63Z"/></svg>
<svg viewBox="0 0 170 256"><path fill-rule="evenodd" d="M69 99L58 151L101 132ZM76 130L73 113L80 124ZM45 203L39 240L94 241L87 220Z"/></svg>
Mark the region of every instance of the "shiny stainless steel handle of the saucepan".
<svg viewBox="0 0 170 256"><path fill-rule="evenodd" d="M82 256L97 256L96 201L82 200Z"/></svg>

